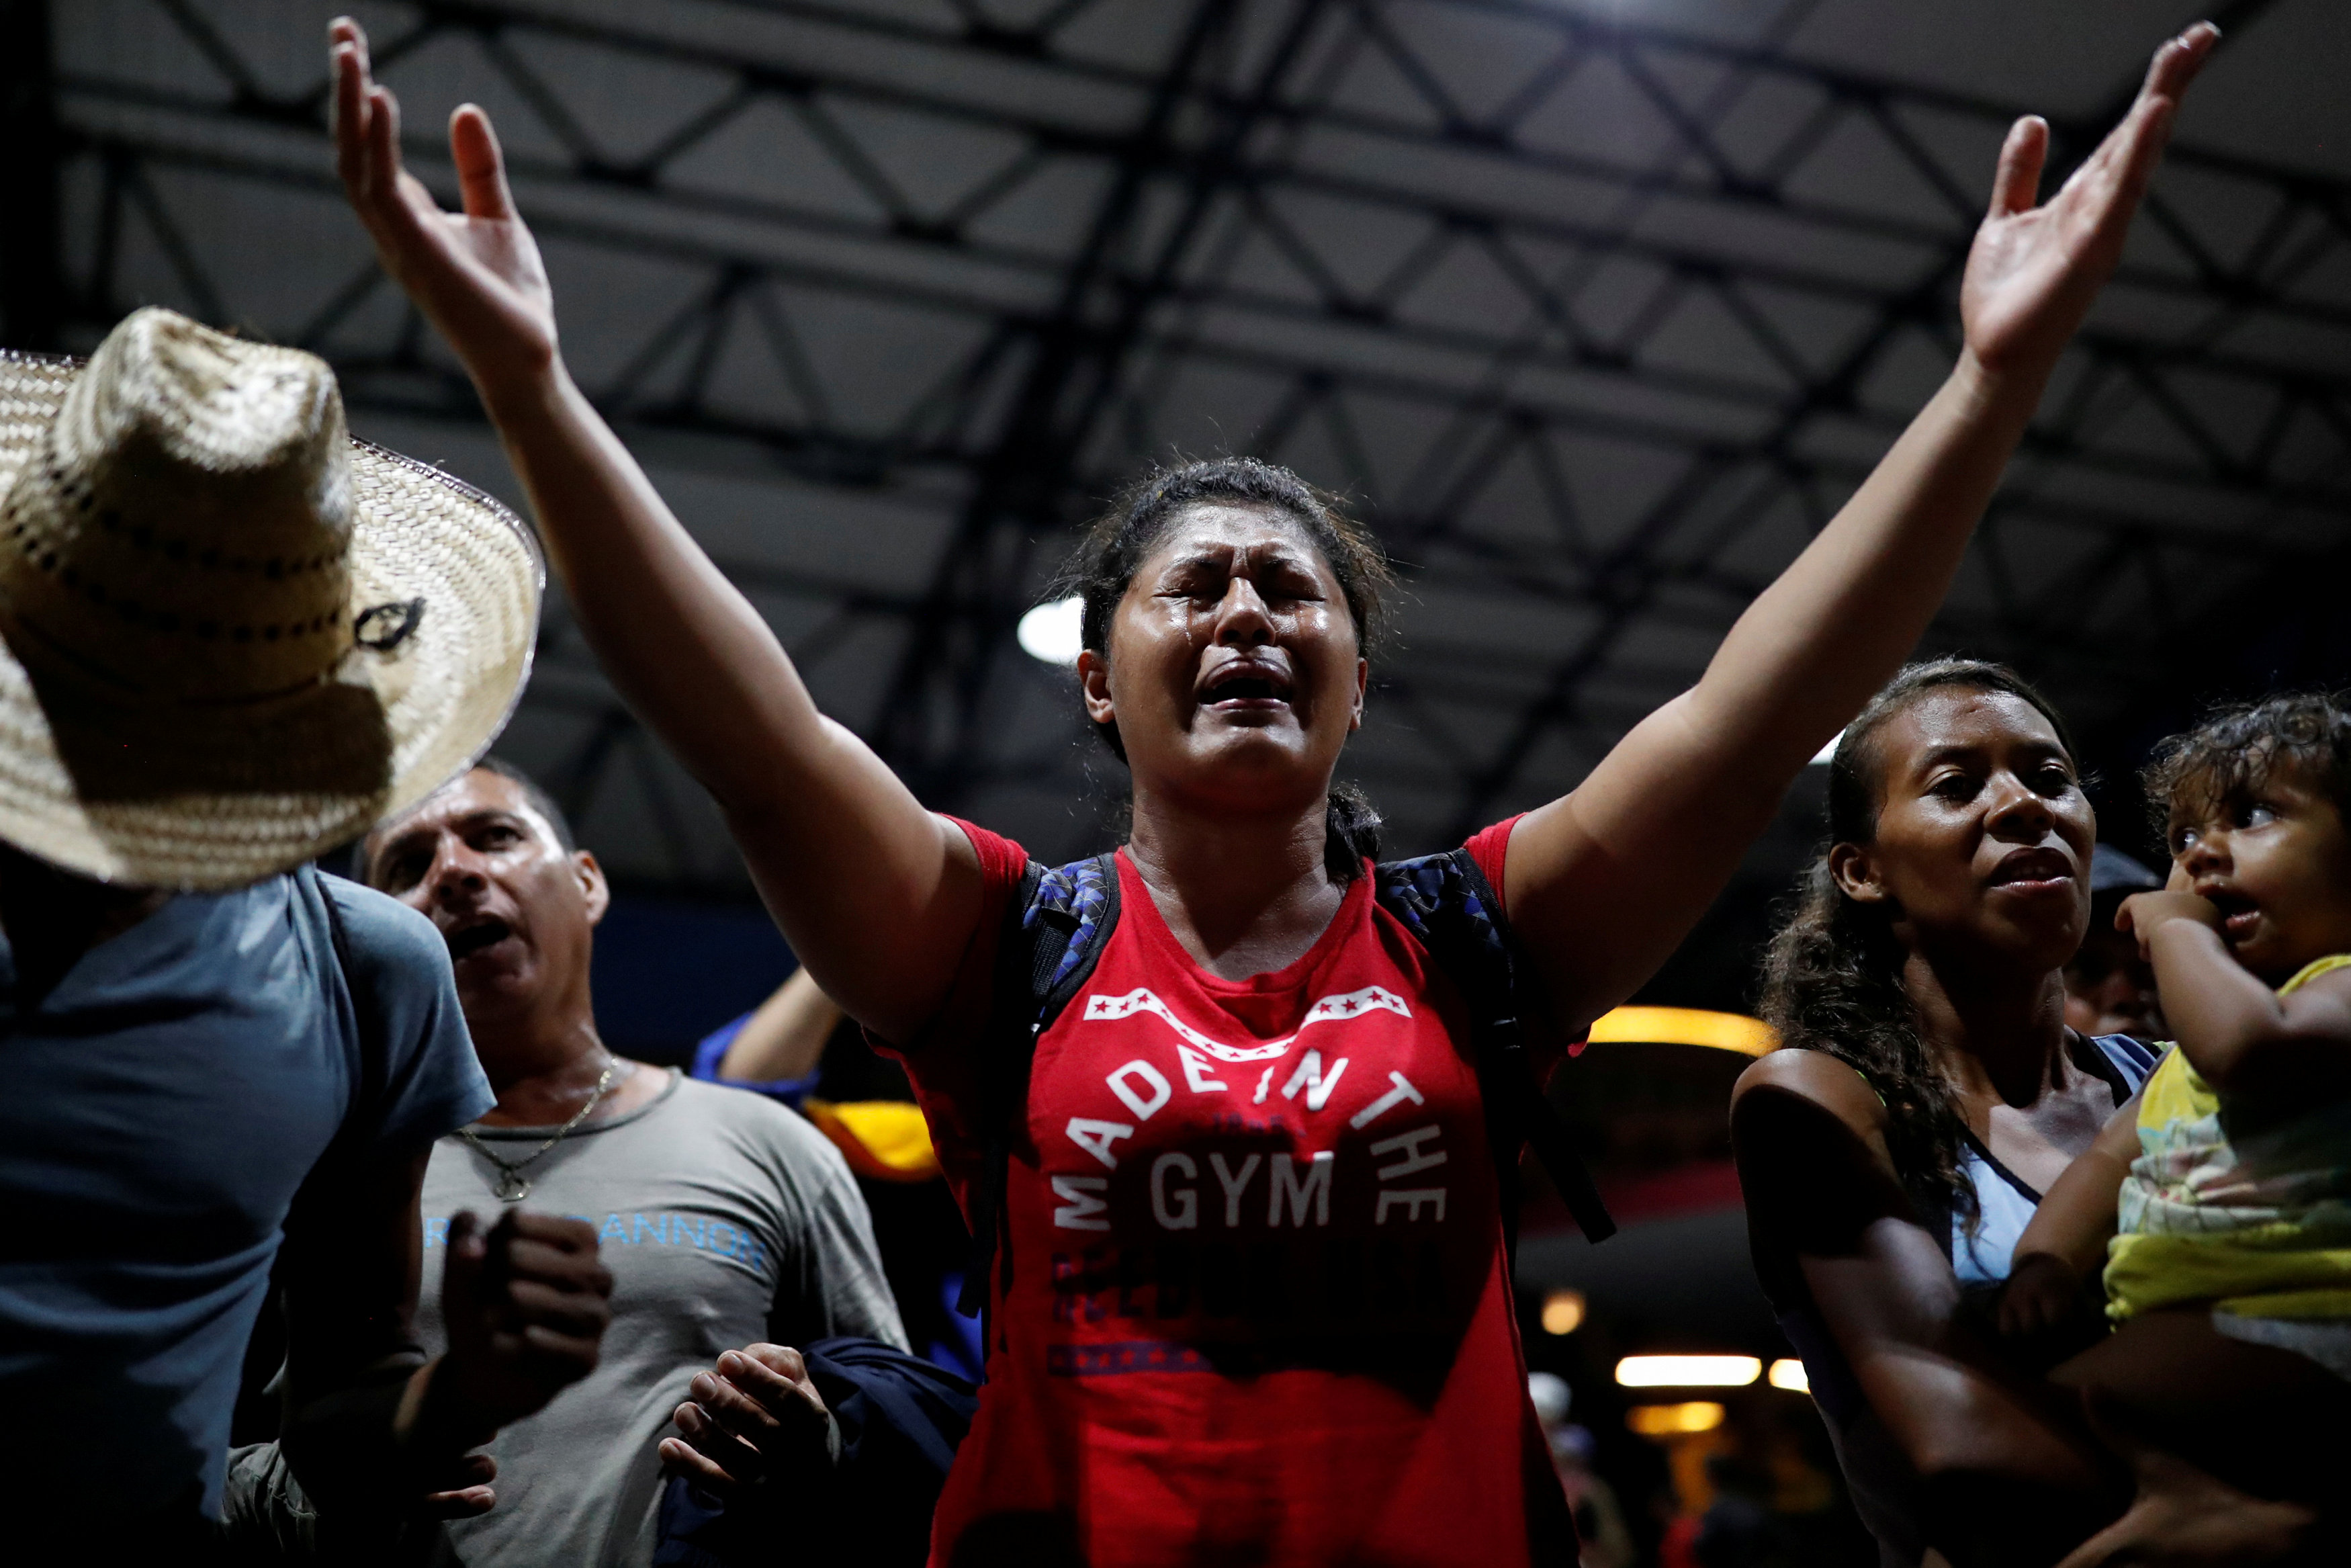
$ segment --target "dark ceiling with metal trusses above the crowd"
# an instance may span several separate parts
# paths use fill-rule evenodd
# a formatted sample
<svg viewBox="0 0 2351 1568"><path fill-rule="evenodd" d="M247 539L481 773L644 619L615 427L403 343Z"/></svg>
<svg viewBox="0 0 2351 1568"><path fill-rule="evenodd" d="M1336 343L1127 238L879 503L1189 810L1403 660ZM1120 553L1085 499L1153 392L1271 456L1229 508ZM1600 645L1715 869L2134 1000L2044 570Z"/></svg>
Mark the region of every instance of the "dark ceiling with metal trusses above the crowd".
<svg viewBox="0 0 2351 1568"><path fill-rule="evenodd" d="M5 240L9 341L174 303L315 348L360 433L510 494L341 212L329 14L12 7L19 42L49 33L7 52L12 146L49 136L61 179L47 230L42 188L12 202L35 221ZM2189 19L2102 7L2008 68L2008 0L360 14L444 195L440 118L491 108L581 383L828 710L1041 853L1093 846L1114 780L1011 630L1072 524L1168 451L1291 463L1408 564L1347 764L1399 846L1570 788L1940 378L2010 118L2050 110L2069 165ZM2222 21L2226 103L2346 63L2330 0ZM2262 52L2278 28L2297 49ZM2346 148L2208 122L1930 635L2027 665L2121 764L2186 686L2316 658L2278 628L2323 632L2351 564ZM508 750L639 884L741 886L562 614Z"/></svg>

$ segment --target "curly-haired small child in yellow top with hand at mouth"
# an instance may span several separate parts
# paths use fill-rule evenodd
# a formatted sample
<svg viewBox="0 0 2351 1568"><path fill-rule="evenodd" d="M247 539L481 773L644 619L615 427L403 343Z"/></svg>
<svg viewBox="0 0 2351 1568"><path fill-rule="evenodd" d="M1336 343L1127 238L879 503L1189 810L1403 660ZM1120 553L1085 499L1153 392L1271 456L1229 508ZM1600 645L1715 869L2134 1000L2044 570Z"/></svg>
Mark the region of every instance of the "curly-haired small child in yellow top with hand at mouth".
<svg viewBox="0 0 2351 1568"><path fill-rule="evenodd" d="M2339 1408L2351 1387L2351 705L2280 696L2219 710L2163 743L2146 795L2172 875L2125 900L2116 926L2154 964L2179 1044L2050 1187L2017 1241L1998 1326L2057 1331L2104 1262L2116 1333L2059 1382L2208 1434L2222 1425L2215 1399L2248 1415L2278 1399Z"/></svg>

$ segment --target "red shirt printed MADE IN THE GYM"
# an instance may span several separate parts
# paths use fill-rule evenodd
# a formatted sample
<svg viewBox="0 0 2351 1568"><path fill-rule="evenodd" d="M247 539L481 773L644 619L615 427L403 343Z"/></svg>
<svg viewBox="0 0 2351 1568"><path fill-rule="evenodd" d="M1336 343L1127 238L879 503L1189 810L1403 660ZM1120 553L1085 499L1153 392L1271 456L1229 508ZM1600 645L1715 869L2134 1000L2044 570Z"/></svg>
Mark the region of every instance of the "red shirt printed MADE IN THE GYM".
<svg viewBox="0 0 2351 1568"><path fill-rule="evenodd" d="M1025 867L966 832L985 936L903 1058L959 1199L973 1020ZM1507 835L1472 839L1495 886ZM1446 978L1359 877L1295 964L1220 980L1117 863L1100 964L1037 1041L933 1566L1507 1568L1573 1542Z"/></svg>

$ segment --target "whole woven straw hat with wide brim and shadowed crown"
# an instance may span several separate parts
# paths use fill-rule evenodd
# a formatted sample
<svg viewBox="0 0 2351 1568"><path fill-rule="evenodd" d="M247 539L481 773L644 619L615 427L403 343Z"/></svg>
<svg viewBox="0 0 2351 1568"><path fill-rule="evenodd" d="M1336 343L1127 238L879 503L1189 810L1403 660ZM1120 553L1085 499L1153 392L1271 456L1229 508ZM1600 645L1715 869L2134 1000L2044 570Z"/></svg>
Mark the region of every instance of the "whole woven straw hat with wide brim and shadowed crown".
<svg viewBox="0 0 2351 1568"><path fill-rule="evenodd" d="M153 308L87 364L0 350L0 839L134 886L301 865L482 755L543 585L313 355Z"/></svg>

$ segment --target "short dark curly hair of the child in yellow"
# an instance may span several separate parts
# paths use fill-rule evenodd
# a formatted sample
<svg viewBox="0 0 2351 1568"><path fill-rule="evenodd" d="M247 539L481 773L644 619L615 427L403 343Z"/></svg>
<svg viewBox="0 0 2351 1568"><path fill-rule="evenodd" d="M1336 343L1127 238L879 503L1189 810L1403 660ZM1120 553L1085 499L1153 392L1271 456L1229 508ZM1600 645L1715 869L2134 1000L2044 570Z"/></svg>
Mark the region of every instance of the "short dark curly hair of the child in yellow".
<svg viewBox="0 0 2351 1568"><path fill-rule="evenodd" d="M2170 844L2175 820L2259 790L2278 769L2299 773L2351 823L2351 693L2222 703L2196 729L2161 741L2139 773L2156 837Z"/></svg>

